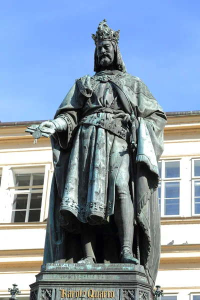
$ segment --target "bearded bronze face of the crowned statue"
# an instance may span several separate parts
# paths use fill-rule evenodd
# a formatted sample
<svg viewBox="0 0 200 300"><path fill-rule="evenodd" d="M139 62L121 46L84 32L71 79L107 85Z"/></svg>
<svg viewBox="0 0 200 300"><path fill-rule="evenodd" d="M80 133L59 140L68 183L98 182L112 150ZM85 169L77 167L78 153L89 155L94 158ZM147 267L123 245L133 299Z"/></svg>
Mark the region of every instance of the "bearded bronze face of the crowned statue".
<svg viewBox="0 0 200 300"><path fill-rule="evenodd" d="M98 63L102 66L108 66L113 63L114 49L109 40L98 41L97 45Z"/></svg>

